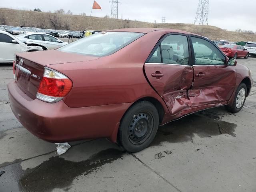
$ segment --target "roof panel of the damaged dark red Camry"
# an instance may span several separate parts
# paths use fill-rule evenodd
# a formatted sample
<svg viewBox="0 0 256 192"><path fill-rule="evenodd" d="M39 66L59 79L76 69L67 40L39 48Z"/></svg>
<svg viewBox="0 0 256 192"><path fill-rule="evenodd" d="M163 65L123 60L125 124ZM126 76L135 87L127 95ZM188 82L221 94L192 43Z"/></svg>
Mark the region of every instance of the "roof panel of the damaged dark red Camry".
<svg viewBox="0 0 256 192"><path fill-rule="evenodd" d="M126 28L126 29L114 29L114 30L106 30L105 32L137 32L137 33L149 33L153 31L165 30L169 33L184 33L184 34L194 34L182 30L176 29L165 29L165 28ZM197 34L194 34L197 35Z"/></svg>

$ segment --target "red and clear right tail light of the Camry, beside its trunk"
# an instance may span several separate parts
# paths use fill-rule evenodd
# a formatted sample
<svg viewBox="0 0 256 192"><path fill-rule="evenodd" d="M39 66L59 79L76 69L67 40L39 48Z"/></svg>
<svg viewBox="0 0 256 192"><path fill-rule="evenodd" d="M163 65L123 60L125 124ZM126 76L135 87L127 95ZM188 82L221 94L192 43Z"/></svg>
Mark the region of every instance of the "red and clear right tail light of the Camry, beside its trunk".
<svg viewBox="0 0 256 192"><path fill-rule="evenodd" d="M36 98L45 102L56 103L70 92L72 85L72 81L67 76L46 67Z"/></svg>

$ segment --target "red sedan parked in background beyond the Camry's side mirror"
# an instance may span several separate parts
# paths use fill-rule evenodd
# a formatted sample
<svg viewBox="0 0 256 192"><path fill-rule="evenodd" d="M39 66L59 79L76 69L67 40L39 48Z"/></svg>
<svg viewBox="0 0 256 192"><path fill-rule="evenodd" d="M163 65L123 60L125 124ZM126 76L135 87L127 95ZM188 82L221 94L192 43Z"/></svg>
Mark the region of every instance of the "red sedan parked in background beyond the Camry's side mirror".
<svg viewBox="0 0 256 192"><path fill-rule="evenodd" d="M222 50L226 56L234 59L239 57L247 59L249 57L249 51L241 45L223 45L220 47L220 50Z"/></svg>

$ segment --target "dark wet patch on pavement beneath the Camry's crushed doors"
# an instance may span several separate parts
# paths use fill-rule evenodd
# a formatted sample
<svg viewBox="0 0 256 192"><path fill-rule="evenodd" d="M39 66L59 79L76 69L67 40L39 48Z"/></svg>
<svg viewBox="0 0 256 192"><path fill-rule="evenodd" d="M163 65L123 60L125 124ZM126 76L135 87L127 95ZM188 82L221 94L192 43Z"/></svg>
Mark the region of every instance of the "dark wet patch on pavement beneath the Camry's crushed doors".
<svg viewBox="0 0 256 192"><path fill-rule="evenodd" d="M161 146L161 142L188 142L195 134L201 138L220 134L230 134L235 137L234 131L237 125L219 120L222 115L224 116L212 111L202 111L170 122L158 128L151 146Z"/></svg>

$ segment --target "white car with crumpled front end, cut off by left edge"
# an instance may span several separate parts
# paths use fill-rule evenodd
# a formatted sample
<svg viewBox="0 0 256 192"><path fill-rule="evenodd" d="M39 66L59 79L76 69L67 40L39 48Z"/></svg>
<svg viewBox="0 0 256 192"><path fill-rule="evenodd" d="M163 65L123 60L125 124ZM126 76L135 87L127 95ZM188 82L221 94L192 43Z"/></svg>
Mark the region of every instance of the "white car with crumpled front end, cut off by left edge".
<svg viewBox="0 0 256 192"><path fill-rule="evenodd" d="M27 46L8 32L0 31L0 63L13 62L16 53L42 50L42 47Z"/></svg>

